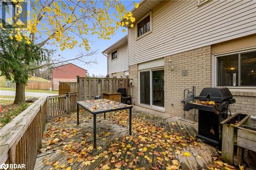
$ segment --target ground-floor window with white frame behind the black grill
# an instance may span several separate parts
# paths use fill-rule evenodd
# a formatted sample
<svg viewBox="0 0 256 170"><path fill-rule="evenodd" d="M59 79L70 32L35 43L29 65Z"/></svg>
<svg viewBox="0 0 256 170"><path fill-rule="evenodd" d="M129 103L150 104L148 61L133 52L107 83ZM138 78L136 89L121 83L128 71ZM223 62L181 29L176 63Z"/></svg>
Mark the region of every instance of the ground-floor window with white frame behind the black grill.
<svg viewBox="0 0 256 170"><path fill-rule="evenodd" d="M256 86L256 51L217 57L217 86Z"/></svg>

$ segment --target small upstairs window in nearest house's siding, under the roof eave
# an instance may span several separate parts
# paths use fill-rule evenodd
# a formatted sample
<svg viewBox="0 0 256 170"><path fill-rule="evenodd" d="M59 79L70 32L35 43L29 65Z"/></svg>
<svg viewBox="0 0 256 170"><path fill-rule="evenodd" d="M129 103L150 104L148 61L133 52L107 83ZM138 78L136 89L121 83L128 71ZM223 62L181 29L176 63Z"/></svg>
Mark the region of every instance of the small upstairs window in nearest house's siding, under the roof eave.
<svg viewBox="0 0 256 170"><path fill-rule="evenodd" d="M137 23L137 37L151 31L151 13L147 14Z"/></svg>

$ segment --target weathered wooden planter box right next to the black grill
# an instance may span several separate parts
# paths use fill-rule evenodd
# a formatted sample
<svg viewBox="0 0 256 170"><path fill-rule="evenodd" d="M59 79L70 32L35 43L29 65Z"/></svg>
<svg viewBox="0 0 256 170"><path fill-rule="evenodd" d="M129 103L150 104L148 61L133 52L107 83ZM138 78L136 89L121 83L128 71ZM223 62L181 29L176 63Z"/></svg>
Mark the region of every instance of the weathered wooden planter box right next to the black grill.
<svg viewBox="0 0 256 170"><path fill-rule="evenodd" d="M234 145L237 145L238 127L250 125L250 115L237 113L221 122L222 124L222 160L233 164Z"/></svg>

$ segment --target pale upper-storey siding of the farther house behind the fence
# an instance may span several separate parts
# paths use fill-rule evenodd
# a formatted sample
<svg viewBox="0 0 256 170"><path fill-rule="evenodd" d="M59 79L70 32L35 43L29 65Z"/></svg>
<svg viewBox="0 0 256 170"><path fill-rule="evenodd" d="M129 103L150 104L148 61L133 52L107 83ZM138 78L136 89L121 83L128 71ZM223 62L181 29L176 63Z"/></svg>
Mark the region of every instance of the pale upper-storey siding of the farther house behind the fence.
<svg viewBox="0 0 256 170"><path fill-rule="evenodd" d="M117 48L117 59L111 60L111 53L108 54L108 74L129 70L127 44Z"/></svg>

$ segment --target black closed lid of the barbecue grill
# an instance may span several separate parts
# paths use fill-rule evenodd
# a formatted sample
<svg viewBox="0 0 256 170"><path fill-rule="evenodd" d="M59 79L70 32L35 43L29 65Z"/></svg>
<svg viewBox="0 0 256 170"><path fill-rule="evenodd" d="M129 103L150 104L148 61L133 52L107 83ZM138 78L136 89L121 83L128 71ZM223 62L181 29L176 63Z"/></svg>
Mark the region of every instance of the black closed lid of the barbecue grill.
<svg viewBox="0 0 256 170"><path fill-rule="evenodd" d="M233 96L227 87L206 87L203 88L199 96L195 97L201 101L210 100L218 103L232 98Z"/></svg>

